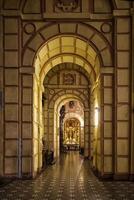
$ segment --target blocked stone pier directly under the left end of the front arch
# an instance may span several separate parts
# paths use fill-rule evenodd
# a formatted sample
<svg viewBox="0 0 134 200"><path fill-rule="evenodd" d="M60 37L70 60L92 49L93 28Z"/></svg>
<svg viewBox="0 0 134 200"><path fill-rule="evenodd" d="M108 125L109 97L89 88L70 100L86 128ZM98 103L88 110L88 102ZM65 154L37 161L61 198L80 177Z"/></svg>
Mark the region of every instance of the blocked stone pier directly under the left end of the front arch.
<svg viewBox="0 0 134 200"><path fill-rule="evenodd" d="M33 162L33 77L21 74L21 173L32 176Z"/></svg>

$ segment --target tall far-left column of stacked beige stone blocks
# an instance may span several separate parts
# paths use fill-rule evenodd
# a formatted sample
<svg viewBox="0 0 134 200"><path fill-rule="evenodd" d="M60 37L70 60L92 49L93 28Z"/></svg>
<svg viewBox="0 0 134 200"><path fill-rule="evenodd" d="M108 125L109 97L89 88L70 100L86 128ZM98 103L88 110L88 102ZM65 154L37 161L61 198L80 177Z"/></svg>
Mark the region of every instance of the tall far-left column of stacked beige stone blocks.
<svg viewBox="0 0 134 200"><path fill-rule="evenodd" d="M4 175L20 175L19 18L4 17Z"/></svg>

